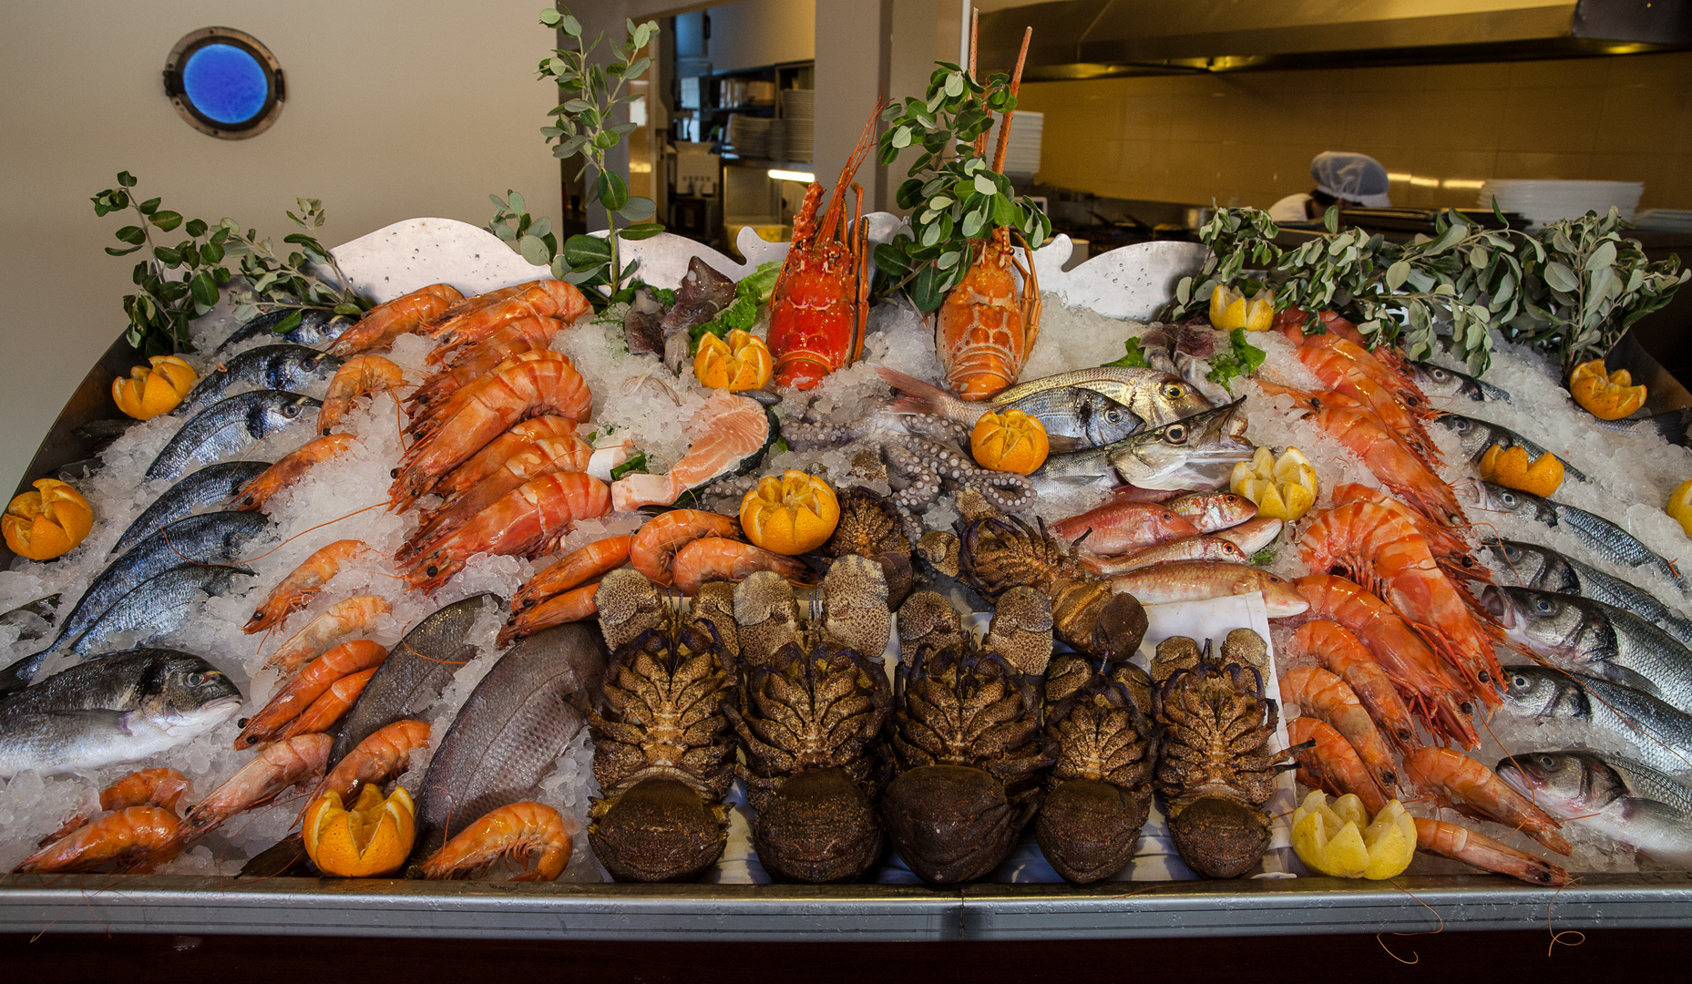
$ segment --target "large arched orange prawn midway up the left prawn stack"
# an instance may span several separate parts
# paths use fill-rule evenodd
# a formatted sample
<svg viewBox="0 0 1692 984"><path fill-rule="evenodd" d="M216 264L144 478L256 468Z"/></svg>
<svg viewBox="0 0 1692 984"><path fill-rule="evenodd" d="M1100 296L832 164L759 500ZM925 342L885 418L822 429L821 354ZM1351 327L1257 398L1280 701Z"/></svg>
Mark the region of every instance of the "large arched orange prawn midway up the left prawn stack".
<svg viewBox="0 0 1692 984"><path fill-rule="evenodd" d="M411 445L394 478L396 509L409 509L435 480L525 418L557 414L585 421L594 409L582 374L567 362L523 362L492 377L464 409Z"/></svg>

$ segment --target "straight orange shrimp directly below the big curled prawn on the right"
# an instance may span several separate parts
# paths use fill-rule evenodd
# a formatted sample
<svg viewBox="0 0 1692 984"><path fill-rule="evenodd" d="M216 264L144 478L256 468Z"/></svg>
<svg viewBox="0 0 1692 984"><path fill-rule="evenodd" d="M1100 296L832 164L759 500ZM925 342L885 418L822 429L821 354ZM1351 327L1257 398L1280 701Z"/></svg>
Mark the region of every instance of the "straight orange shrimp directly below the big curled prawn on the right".
<svg viewBox="0 0 1692 984"><path fill-rule="evenodd" d="M1298 593L1310 602L1310 614L1332 619L1364 641L1376 663L1398 686L1399 697L1428 730L1464 747L1480 744L1465 719L1462 686L1445 671L1433 649L1421 641L1391 605L1345 578L1310 575L1299 578Z"/></svg>

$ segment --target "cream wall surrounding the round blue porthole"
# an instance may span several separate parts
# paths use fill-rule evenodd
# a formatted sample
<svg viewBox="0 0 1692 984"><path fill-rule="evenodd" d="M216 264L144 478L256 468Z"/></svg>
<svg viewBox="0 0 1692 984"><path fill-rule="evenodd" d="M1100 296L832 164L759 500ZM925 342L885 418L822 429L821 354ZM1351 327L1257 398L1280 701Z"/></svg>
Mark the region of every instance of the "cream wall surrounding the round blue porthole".
<svg viewBox="0 0 1692 984"><path fill-rule="evenodd" d="M8 0L0 22L0 490L10 490L90 365L124 328L134 259L88 198L122 169L190 216L281 238L296 196L321 238L438 215L484 223L521 189L560 215L538 128L553 47L536 0ZM164 96L176 39L237 27L276 52L288 103L269 132L217 140Z"/></svg>

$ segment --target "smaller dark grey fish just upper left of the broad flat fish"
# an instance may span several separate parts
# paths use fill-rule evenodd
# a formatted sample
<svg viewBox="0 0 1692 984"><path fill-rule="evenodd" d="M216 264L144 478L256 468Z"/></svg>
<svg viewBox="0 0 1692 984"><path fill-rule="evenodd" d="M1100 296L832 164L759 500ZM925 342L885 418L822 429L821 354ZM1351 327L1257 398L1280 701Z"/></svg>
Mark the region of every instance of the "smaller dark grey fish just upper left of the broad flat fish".
<svg viewBox="0 0 1692 984"><path fill-rule="evenodd" d="M474 595L438 609L406 632L340 725L328 752L330 768L379 729L416 717L435 703L452 675L475 656L475 646L465 641L470 626L484 605L497 604L494 595Z"/></svg>

